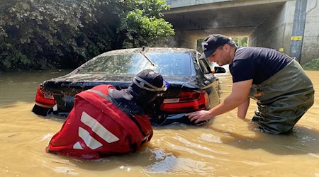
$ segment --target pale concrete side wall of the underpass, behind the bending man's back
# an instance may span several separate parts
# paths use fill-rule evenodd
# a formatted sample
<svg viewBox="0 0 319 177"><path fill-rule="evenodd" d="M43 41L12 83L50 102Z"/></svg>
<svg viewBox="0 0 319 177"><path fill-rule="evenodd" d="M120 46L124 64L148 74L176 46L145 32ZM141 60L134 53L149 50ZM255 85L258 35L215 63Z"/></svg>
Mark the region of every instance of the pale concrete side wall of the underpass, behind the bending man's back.
<svg viewBox="0 0 319 177"><path fill-rule="evenodd" d="M277 13L258 25L249 36L249 46L269 47L289 55L296 1L287 1ZM319 0L308 0L301 63L319 57Z"/></svg>

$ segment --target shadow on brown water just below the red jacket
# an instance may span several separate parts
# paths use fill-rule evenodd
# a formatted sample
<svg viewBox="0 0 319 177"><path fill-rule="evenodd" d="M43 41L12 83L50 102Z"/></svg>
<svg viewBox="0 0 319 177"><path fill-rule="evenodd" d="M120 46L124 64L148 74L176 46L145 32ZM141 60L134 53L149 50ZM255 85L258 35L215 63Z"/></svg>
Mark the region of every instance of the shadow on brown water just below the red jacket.
<svg viewBox="0 0 319 177"><path fill-rule="evenodd" d="M60 156L60 155L58 155ZM112 169L128 169L139 166L146 170L147 173L162 173L169 171L177 165L178 153L165 152L158 147L152 147L151 144L142 145L138 152L129 154L118 154L103 157L101 159L84 160L74 159L71 156L60 156L62 161L52 161L56 164L65 164L77 166L81 169L94 171L109 171Z"/></svg>

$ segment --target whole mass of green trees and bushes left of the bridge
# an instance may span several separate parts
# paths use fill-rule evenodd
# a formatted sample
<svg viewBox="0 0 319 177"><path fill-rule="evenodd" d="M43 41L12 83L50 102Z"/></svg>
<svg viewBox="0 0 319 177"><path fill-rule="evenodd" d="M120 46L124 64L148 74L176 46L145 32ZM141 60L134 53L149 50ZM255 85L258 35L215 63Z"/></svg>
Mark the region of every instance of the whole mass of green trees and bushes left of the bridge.
<svg viewBox="0 0 319 177"><path fill-rule="evenodd" d="M108 50L165 45L164 0L1 0L0 71L73 69Z"/></svg>

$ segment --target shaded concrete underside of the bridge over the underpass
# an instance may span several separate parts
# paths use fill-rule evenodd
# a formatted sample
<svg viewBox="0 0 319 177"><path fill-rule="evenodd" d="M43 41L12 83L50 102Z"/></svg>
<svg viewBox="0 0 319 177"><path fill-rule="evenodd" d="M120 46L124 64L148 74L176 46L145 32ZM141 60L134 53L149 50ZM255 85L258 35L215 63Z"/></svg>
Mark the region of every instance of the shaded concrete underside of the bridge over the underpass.
<svg viewBox="0 0 319 177"><path fill-rule="evenodd" d="M252 3L254 2L254 3ZM220 33L231 37L247 37L259 24L283 8L286 1L229 1L171 8L164 19L176 31L204 38Z"/></svg>

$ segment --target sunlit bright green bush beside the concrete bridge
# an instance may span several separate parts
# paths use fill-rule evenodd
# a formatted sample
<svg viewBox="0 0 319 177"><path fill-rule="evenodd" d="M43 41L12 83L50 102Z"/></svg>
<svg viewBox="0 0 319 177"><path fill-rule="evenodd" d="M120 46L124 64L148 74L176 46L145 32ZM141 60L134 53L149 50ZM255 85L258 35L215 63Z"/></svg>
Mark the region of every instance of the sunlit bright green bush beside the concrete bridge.
<svg viewBox="0 0 319 177"><path fill-rule="evenodd" d="M120 23L118 32L125 33L124 47L163 46L174 35L172 25L164 21L161 11L169 6L163 0L120 0L117 9Z"/></svg>

